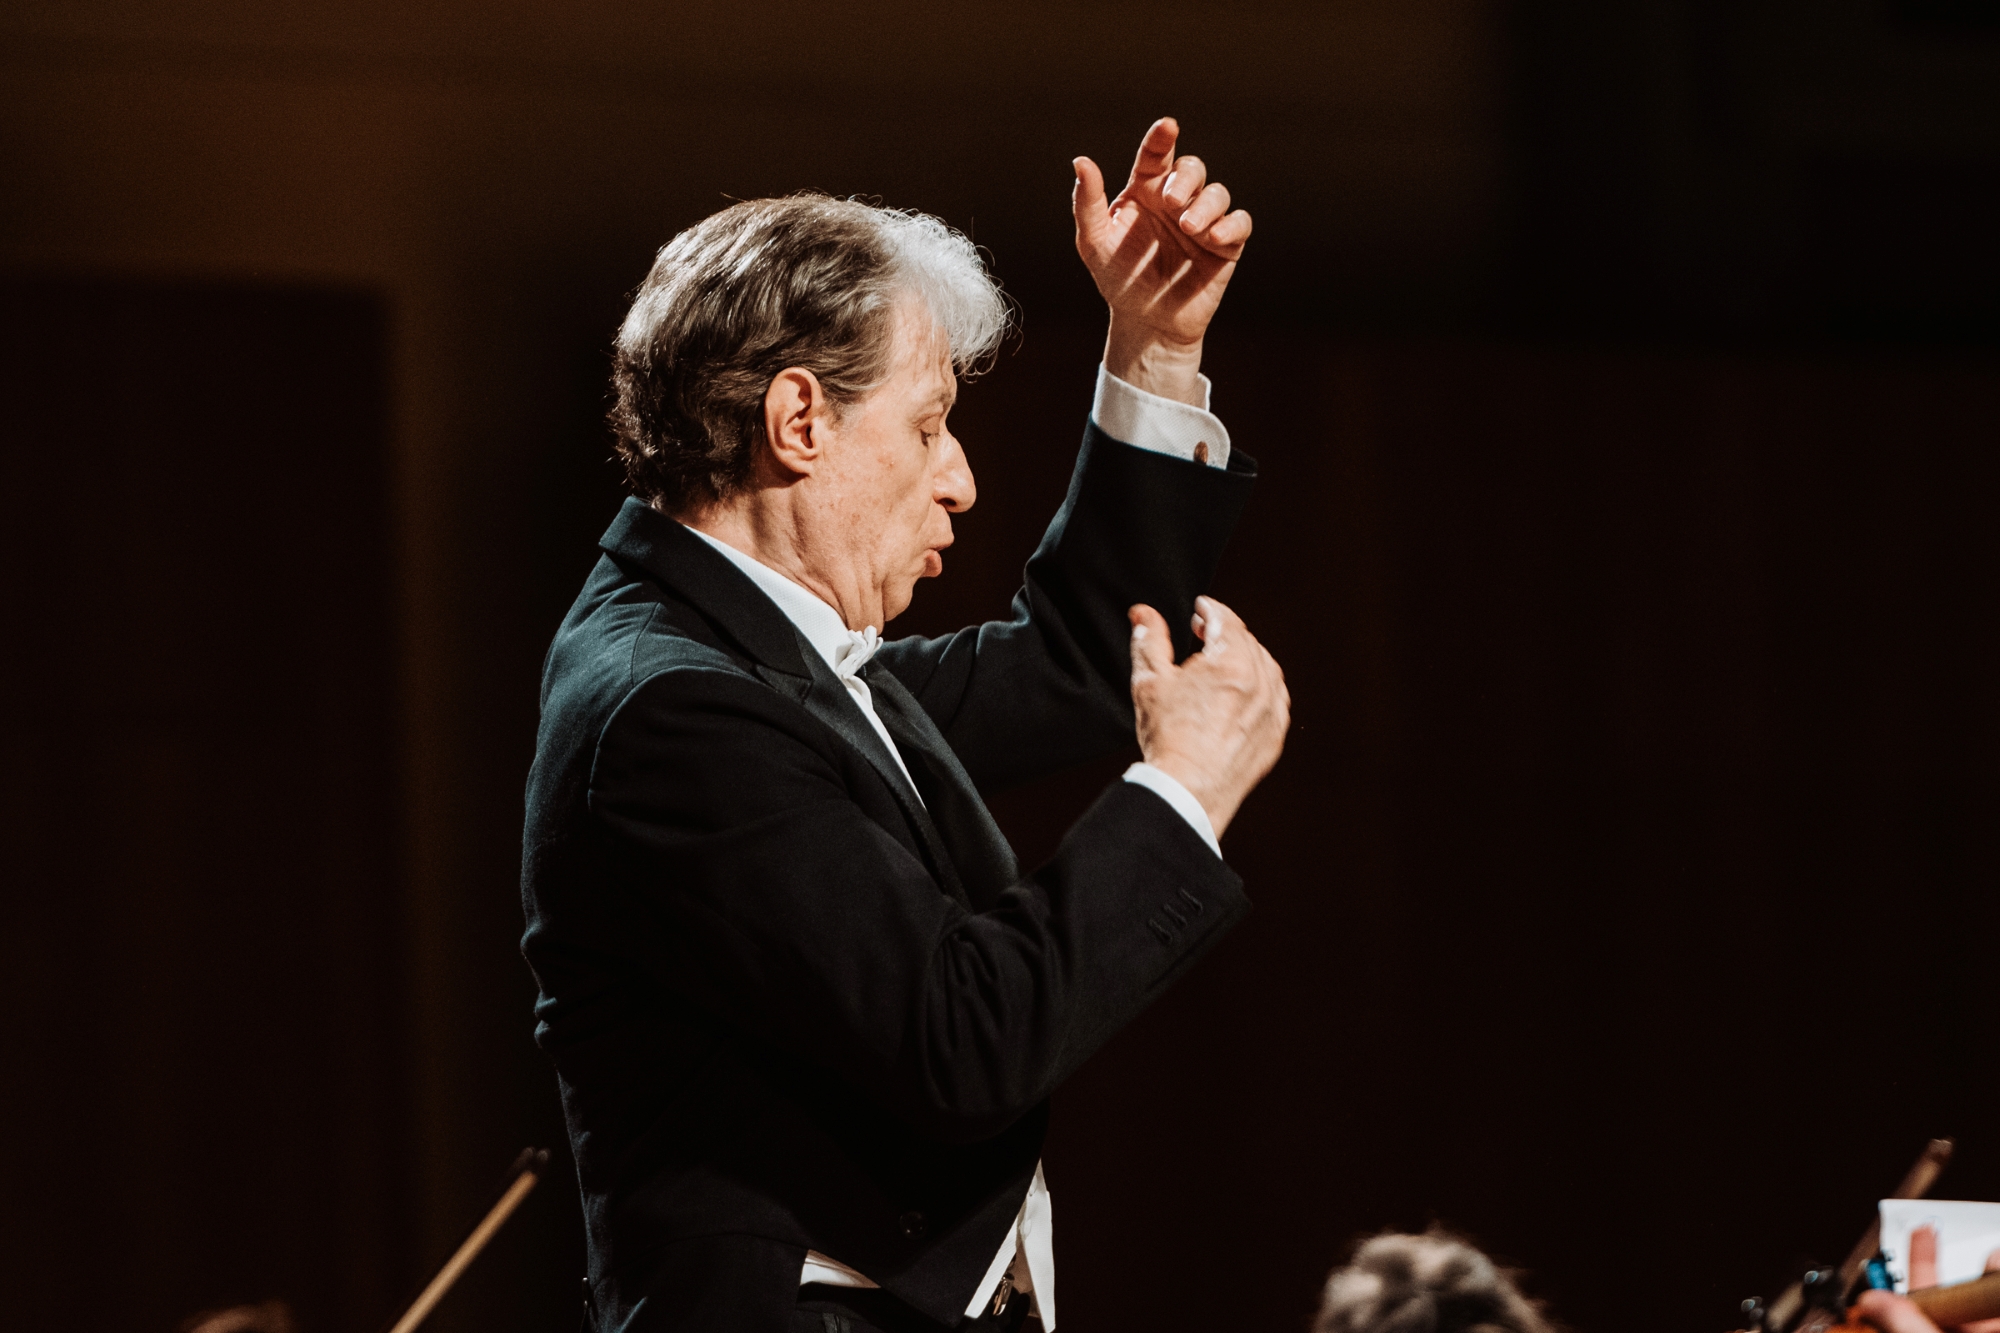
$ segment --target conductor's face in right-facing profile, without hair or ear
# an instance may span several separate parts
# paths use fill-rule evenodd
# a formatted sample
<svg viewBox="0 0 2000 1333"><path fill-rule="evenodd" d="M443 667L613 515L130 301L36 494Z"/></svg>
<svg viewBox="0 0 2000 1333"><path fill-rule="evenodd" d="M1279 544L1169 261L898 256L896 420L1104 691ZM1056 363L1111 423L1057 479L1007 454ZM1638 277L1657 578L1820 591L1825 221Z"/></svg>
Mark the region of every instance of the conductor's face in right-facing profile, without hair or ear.
<svg viewBox="0 0 2000 1333"><path fill-rule="evenodd" d="M888 378L814 424L826 432L826 536L880 590L884 620L902 614L918 578L944 572L952 514L978 494L946 426L956 400L950 348L920 306L904 306Z"/></svg>

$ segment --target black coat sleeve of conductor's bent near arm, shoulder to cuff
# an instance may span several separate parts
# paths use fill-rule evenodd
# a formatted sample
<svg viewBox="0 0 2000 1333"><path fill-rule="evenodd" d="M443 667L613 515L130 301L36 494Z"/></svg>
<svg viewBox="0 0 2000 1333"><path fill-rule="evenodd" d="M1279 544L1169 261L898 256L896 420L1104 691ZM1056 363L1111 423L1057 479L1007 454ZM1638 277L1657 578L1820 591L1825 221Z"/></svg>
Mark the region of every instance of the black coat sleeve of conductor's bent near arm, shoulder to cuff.
<svg viewBox="0 0 2000 1333"><path fill-rule="evenodd" d="M762 683L666 671L606 725L590 809L658 983L932 1137L982 1139L1040 1103L1248 907L1164 801L1118 783L966 913L840 763Z"/></svg>

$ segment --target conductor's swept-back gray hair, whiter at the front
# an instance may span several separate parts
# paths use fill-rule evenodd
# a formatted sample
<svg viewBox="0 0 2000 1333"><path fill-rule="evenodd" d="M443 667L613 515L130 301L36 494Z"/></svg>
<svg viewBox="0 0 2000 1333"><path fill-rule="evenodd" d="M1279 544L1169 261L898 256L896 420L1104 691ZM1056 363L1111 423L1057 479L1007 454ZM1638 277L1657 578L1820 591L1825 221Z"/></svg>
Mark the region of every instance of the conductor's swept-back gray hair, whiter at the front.
<svg viewBox="0 0 2000 1333"><path fill-rule="evenodd" d="M824 194L734 204L670 240L612 354L610 424L632 490L666 512L750 480L764 394L812 370L836 410L882 384L896 312L918 302L958 374L976 374L1010 310L978 248L922 212Z"/></svg>

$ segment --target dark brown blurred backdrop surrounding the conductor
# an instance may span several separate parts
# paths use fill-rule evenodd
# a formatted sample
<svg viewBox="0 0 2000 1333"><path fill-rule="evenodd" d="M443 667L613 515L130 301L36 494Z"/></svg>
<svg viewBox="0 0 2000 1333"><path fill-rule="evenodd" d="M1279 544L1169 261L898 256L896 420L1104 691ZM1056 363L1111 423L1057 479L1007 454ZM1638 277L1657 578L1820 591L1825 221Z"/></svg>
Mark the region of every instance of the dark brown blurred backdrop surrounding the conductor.
<svg viewBox="0 0 2000 1333"><path fill-rule="evenodd" d="M624 294L802 186L988 246L908 626L996 614L1102 336L1068 160L1162 112L1258 222L1216 592L1298 731L1258 911L1058 1095L1062 1327L1296 1333L1436 1219L1716 1333L1928 1135L2000 1197L2000 4L12 0L0 1323L366 1333L560 1145L520 795ZM566 1171L440 1333L574 1327Z"/></svg>

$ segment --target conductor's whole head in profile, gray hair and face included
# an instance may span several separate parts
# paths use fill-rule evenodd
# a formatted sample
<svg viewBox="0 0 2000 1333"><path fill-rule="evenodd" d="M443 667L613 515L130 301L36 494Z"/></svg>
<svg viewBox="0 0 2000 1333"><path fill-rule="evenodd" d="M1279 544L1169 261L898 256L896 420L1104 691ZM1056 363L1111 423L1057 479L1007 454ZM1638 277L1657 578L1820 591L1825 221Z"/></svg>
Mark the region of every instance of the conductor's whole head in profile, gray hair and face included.
<svg viewBox="0 0 2000 1333"><path fill-rule="evenodd" d="M946 416L1006 326L978 250L936 218L812 194L724 208L660 250L618 330L626 478L696 526L738 510L760 558L850 628L884 624L972 506Z"/></svg>

